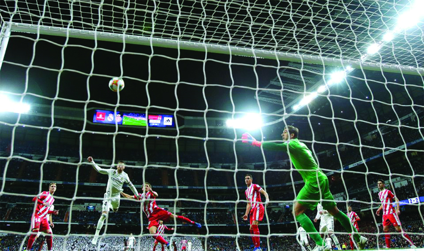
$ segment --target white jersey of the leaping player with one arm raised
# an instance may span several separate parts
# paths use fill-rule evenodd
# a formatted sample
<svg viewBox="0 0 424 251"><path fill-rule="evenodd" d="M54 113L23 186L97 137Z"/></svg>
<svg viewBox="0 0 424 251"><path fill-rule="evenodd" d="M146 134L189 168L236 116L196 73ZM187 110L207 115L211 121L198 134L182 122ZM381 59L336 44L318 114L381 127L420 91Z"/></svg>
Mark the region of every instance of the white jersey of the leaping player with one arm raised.
<svg viewBox="0 0 424 251"><path fill-rule="evenodd" d="M123 183L128 184L128 187L134 193L134 195L138 195L137 189L132 185L129 180L128 175L122 171L118 173L117 169L103 169L100 168L94 161L91 162L93 164L94 169L101 174L107 174L109 176L108 186L106 187L106 194L108 197L118 197L121 192L123 192L122 186Z"/></svg>

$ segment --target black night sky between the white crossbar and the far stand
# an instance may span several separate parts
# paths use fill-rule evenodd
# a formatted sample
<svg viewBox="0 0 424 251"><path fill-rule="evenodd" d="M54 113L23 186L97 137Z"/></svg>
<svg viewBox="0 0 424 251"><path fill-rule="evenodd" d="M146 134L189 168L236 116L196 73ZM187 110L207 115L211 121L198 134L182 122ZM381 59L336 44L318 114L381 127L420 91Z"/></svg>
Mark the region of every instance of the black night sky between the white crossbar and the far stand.
<svg viewBox="0 0 424 251"><path fill-rule="evenodd" d="M10 39L4 60L27 66L34 59L32 65L38 67L30 68L27 74L26 67L5 62L1 69L0 81L1 83L10 83L10 85L1 85L2 91L23 93L27 80L28 93L54 98L58 91L59 81L59 98L87 100L88 81L90 100L107 102L113 105L117 102L117 95L108 89L108 82L111 77L121 75L122 61L125 89L121 92L120 104L142 106L148 104L146 83L149 79L149 55L151 54L149 46L126 44L125 53L121 54L121 43L99 41L97 50L93 54L91 48L95 47L94 41L69 38L66 47L63 49L64 70L58 79L58 70L62 66L61 53L66 41L65 38L41 36L41 40L34 47L32 39L36 38L35 35L22 33L13 33L12 35L19 37ZM203 61L190 60L190 58L203 60L205 52L180 50L177 69L178 50L157 47L153 49L154 56L150 61L151 82L148 84L151 105L176 108L175 88L177 81L180 81L197 85L204 85L205 83L207 85L222 85L222 87L207 86L205 88L209 109L232 111L231 89L228 88L232 85L231 74L235 85L251 88L256 87L257 81L259 86L263 87L277 75L277 69L269 67L276 65L275 60L258 58L257 64L259 65L254 68L251 66L254 64L254 58L233 56L232 63L246 65L233 64L231 65L232 73L230 73L229 55L208 53L205 63L205 78ZM104 76L88 77L86 74L89 74L92 68L93 74ZM256 80L254 69L258 75L258 80ZM178 79L179 77L180 79ZM168 84L159 82L168 82ZM206 103L203 99L202 89L201 86L184 83L178 85L179 107L204 110ZM234 88L232 96L236 111L258 112L256 100L253 99L254 93L254 90ZM31 99L34 98L25 98L25 100L33 102L42 101ZM66 102L64 105L75 106L71 102ZM99 105L93 104L93 106ZM268 103L261 103L261 106L266 112L272 112L278 108L278 106ZM201 114L199 113L199 115Z"/></svg>

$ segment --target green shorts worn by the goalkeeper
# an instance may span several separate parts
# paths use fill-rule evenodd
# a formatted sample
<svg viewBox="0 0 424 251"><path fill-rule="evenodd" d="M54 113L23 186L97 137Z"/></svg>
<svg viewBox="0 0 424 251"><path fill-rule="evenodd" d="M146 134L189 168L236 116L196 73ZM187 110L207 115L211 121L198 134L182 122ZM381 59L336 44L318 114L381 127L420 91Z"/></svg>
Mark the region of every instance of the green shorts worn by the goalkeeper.
<svg viewBox="0 0 424 251"><path fill-rule="evenodd" d="M321 193L319 190L321 190ZM328 186L328 179L306 183L299 192L298 197L296 197L296 201L311 210L315 210L316 205L320 201L322 207L326 210L336 205Z"/></svg>

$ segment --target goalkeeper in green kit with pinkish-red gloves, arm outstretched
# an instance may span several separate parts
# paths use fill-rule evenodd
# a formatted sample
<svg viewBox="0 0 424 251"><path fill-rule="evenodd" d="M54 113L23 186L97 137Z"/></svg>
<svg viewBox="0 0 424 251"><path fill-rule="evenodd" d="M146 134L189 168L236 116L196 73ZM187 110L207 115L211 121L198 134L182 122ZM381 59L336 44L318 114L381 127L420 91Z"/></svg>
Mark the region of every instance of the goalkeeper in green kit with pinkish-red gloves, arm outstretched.
<svg viewBox="0 0 424 251"><path fill-rule="evenodd" d="M251 144L255 147L262 146L263 150L285 151L289 154L290 160L294 167L302 175L303 181L305 182L305 185L294 202L293 212L296 220L315 241L317 246L314 251L327 251L331 249L330 247L325 246L325 242L316 231L312 221L304 214L307 209L314 210L318 202L321 200L321 204L324 209L334 216L334 218L340 222L347 232L353 233L353 237L358 244L358 248L363 250L368 239L360 236L356 228L352 226L349 217L337 208L333 195L330 193L327 176L325 176L316 164L315 159L312 156L312 152L305 144L298 140L298 134L298 128L294 126L287 126L284 128L284 132L281 135L285 141L282 144L272 142L261 143L256 141L248 133L244 133L242 135L242 143Z"/></svg>

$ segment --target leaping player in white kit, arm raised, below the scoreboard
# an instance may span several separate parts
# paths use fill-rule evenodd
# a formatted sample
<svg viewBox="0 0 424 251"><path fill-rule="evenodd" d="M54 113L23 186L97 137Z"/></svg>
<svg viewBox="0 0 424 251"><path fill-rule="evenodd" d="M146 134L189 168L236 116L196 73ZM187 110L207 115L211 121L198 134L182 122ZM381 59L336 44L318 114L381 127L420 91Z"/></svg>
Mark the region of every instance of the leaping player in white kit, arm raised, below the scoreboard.
<svg viewBox="0 0 424 251"><path fill-rule="evenodd" d="M91 162L97 172L101 174L107 174L109 176L108 185L106 187L106 193L102 204L102 215L100 216L100 219L97 222L96 234L94 235L94 238L91 241L93 245L96 245L97 239L99 238L100 230L103 227L103 222L108 217L110 208L112 208L114 212L118 211L121 200L121 192L123 191L123 183L128 184L129 188L137 198L139 198L139 195L137 189L129 180L128 175L123 171L123 169L125 169L125 163L123 163L122 161L119 162L117 169L103 169L100 168L100 166L96 165L96 163L94 163L93 157L90 156L87 158L87 160L88 162Z"/></svg>

